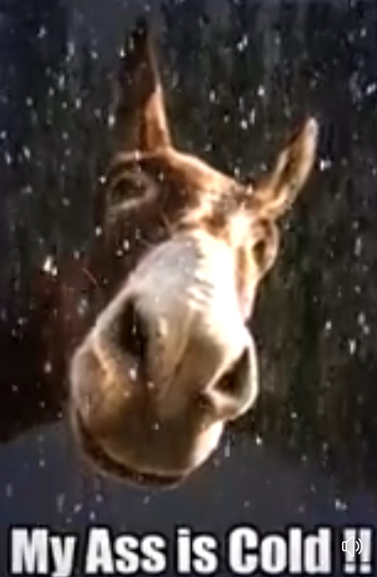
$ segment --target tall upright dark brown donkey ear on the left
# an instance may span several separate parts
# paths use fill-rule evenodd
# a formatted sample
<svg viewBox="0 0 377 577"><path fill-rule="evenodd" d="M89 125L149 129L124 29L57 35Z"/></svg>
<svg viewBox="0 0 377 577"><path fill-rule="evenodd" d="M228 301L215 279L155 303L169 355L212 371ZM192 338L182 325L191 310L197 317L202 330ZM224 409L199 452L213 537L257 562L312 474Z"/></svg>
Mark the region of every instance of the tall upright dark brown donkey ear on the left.
<svg viewBox="0 0 377 577"><path fill-rule="evenodd" d="M140 19L120 61L115 108L118 151L154 151L170 144L164 93L150 31Z"/></svg>

